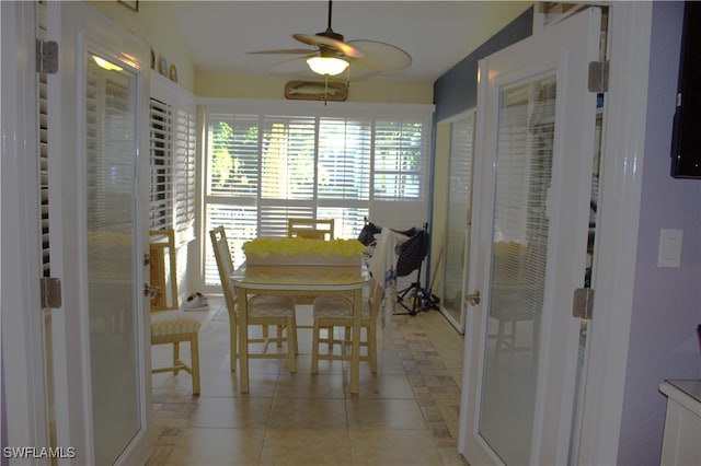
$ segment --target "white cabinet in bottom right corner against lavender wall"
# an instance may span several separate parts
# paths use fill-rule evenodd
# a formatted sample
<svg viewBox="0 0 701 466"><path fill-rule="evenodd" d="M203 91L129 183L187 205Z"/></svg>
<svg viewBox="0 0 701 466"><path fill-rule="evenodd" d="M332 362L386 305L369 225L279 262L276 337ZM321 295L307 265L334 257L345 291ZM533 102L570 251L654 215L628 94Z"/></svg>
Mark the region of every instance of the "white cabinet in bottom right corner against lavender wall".
<svg viewBox="0 0 701 466"><path fill-rule="evenodd" d="M667 417L662 465L701 464L701 381L665 381Z"/></svg>

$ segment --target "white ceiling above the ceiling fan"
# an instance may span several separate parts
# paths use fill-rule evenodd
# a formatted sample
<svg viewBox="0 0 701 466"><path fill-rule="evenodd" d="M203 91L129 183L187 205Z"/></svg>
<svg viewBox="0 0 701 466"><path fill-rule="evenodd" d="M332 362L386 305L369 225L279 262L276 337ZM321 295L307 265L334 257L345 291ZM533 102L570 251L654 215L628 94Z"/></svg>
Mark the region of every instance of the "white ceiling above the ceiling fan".
<svg viewBox="0 0 701 466"><path fill-rule="evenodd" d="M412 56L409 69L366 80L433 82L531 4L336 0L332 27L345 40L384 42ZM327 1L174 1L172 5L195 66L207 73L271 74L275 65L299 56L246 53L309 47L291 35L317 34L327 25Z"/></svg>

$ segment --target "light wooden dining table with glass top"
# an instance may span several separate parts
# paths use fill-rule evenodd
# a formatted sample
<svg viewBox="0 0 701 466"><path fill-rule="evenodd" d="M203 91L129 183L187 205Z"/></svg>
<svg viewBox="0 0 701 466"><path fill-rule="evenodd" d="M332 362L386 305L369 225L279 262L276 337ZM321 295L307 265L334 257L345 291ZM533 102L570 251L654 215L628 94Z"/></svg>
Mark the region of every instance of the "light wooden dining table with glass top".
<svg viewBox="0 0 701 466"><path fill-rule="evenodd" d="M322 295L343 295L353 302L353 337L350 349L350 393L357 394L360 378L360 323L363 290L370 280L364 265L246 265L231 275L237 290L239 318L239 357L241 393L249 392L246 331L249 300L256 294L287 295L308 300Z"/></svg>

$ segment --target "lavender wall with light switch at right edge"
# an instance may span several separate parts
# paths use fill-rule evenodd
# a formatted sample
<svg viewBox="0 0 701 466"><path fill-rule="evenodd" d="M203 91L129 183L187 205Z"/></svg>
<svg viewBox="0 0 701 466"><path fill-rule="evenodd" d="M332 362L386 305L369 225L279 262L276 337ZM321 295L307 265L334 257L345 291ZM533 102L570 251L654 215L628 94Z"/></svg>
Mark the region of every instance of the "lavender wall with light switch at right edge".
<svg viewBox="0 0 701 466"><path fill-rule="evenodd" d="M635 291L619 465L658 465L665 378L701 378L701 179L669 176L683 2L653 5ZM616 57L611 57L616 59ZM701 129L700 129L701 130ZM660 229L683 230L680 268L658 268Z"/></svg>

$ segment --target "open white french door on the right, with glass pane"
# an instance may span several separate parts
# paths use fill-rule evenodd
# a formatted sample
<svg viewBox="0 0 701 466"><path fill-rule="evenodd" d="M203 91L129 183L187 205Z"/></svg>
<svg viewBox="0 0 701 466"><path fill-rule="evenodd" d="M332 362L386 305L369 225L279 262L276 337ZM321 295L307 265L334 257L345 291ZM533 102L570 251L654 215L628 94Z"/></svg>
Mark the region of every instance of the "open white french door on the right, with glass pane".
<svg viewBox="0 0 701 466"><path fill-rule="evenodd" d="M480 62L459 445L471 464L568 462L600 21L589 9Z"/></svg>

